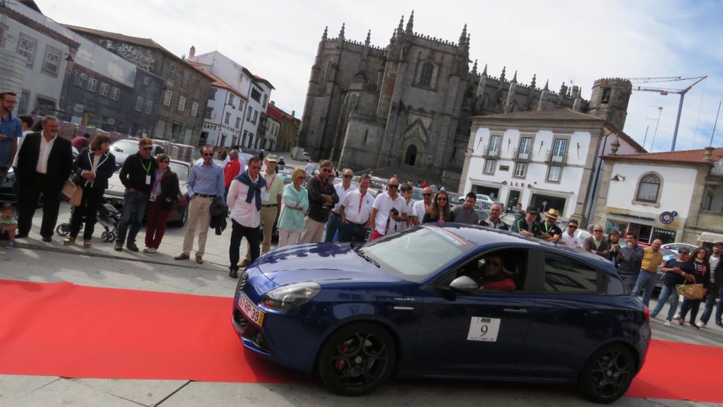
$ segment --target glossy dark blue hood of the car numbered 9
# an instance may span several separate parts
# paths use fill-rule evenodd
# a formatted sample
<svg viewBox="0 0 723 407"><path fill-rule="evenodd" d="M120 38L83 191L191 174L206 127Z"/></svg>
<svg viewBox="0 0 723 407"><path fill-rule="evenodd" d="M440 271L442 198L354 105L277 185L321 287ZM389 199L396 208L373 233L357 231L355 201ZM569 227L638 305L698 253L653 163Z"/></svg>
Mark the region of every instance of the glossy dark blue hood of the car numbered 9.
<svg viewBox="0 0 723 407"><path fill-rule="evenodd" d="M405 281L369 263L348 243L286 246L261 257L257 267L278 285L307 281L320 285Z"/></svg>

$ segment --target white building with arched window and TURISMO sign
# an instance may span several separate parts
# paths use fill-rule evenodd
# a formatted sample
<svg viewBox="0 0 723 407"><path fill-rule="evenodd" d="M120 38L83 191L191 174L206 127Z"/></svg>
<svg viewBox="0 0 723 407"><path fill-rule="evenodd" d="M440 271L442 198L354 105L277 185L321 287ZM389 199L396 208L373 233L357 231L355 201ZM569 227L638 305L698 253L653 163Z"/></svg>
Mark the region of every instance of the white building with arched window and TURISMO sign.
<svg viewBox="0 0 723 407"><path fill-rule="evenodd" d="M595 222L643 242L723 241L723 148L604 156Z"/></svg>

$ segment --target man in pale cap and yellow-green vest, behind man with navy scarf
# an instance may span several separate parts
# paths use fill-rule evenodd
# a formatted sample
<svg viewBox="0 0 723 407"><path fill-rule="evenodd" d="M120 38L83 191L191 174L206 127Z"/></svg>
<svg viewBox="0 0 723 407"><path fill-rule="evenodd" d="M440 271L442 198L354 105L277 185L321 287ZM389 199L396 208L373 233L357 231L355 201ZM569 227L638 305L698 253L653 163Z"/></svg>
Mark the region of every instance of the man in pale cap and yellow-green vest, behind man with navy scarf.
<svg viewBox="0 0 723 407"><path fill-rule="evenodd" d="M283 179L276 175L276 163L278 158L275 154L266 154L266 170L262 177L266 181L266 189L261 194L260 227L264 232L264 240L261 243L261 254L271 250L271 237L273 225L278 222L278 215L281 214L281 196L283 195ZM240 269L252 263L251 246L246 251L246 259L238 264Z"/></svg>

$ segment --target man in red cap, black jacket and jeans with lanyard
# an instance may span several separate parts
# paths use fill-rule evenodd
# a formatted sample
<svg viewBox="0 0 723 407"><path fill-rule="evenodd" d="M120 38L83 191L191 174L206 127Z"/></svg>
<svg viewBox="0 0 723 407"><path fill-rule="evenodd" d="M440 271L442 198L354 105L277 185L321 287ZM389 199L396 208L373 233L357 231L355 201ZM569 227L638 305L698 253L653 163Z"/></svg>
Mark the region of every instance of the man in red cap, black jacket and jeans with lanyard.
<svg viewBox="0 0 723 407"><path fill-rule="evenodd" d="M138 251L135 238L142 226L145 206L155 177L156 164L155 159L150 156L151 150L153 150L153 141L147 137L141 138L138 142L138 152L128 156L121 167L119 178L126 191L123 195L121 221L118 222L115 251L122 251L124 242L129 251Z"/></svg>

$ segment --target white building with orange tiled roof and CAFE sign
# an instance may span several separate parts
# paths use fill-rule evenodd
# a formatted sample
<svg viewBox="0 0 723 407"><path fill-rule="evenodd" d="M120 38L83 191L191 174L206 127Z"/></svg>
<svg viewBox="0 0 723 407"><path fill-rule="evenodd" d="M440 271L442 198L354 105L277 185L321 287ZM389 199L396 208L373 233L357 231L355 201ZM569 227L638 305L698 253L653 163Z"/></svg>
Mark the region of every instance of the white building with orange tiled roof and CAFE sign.
<svg viewBox="0 0 723 407"><path fill-rule="evenodd" d="M188 62L196 67L213 83L208 94L208 102L203 112L203 130L200 145L214 147L238 146L241 140L241 127L244 122L244 109L247 98L231 85L223 82L208 71L208 66L199 62Z"/></svg>

